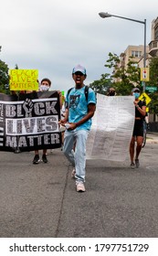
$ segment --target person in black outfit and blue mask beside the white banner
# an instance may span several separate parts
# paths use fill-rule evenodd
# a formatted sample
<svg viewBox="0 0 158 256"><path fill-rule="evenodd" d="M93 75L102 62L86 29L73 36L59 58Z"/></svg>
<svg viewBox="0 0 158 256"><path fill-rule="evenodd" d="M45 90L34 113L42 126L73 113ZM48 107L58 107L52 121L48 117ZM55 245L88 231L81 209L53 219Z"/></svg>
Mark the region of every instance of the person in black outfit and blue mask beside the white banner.
<svg viewBox="0 0 158 256"><path fill-rule="evenodd" d="M143 119L146 114L146 104L145 101L140 101L140 89L134 88L132 89L132 95L134 96L135 100L133 104L135 106L135 121L132 133L132 140L130 143L130 156L131 156L131 167L139 167L139 155L142 150L142 142L143 142ZM136 153L135 153L135 163L134 163L134 149L135 149L135 142L136 142Z"/></svg>

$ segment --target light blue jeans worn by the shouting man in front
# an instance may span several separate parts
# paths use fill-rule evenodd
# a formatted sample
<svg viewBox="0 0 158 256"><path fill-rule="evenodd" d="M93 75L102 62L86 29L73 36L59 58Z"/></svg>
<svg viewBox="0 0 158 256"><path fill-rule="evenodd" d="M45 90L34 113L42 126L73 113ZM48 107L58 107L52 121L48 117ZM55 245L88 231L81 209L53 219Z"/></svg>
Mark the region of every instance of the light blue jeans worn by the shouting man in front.
<svg viewBox="0 0 158 256"><path fill-rule="evenodd" d="M89 131L87 130L73 130L64 134L64 148L63 152L68 158L68 161L75 167L76 181L84 182L86 175L86 141ZM75 145L75 152L73 147Z"/></svg>

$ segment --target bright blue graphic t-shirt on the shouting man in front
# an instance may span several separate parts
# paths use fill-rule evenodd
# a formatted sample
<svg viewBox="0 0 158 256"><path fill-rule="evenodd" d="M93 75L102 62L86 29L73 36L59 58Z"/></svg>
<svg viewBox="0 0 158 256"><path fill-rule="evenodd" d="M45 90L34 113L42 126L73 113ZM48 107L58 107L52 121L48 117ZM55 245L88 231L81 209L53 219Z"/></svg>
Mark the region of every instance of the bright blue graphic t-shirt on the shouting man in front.
<svg viewBox="0 0 158 256"><path fill-rule="evenodd" d="M87 113L88 105L90 103L96 104L96 95L95 92L89 88L88 101L85 96L85 86L76 89L73 88L69 94L67 93L66 102L68 105L68 122L69 123L78 123ZM91 118L80 124L76 130L90 130Z"/></svg>

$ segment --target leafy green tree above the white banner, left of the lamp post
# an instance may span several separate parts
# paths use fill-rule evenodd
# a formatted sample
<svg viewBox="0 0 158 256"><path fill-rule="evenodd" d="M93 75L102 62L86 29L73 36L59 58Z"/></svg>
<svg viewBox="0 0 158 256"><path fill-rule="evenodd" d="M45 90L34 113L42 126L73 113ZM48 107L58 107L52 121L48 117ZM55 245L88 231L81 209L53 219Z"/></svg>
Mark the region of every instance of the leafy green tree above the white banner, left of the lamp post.
<svg viewBox="0 0 158 256"><path fill-rule="evenodd" d="M107 94L110 87L113 87L117 95L130 95L134 86L140 87L140 69L136 62L129 59L127 69L121 65L121 59L116 54L109 53L109 59L104 65L111 69L110 73L101 75L100 80L95 80L90 87L98 93Z"/></svg>

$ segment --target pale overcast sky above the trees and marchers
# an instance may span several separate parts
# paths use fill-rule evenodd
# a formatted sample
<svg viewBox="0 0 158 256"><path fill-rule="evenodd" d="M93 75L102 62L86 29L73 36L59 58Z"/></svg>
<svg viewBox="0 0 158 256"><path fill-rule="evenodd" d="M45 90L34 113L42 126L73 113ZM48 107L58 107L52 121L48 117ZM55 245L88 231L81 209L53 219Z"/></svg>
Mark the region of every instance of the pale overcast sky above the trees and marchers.
<svg viewBox="0 0 158 256"><path fill-rule="evenodd" d="M9 69L38 69L52 90L74 86L71 71L87 69L85 83L100 80L109 52L120 55L129 45L143 45L143 24L100 12L147 21L147 44L157 0L1 0L0 59Z"/></svg>

